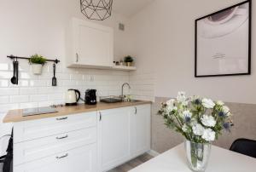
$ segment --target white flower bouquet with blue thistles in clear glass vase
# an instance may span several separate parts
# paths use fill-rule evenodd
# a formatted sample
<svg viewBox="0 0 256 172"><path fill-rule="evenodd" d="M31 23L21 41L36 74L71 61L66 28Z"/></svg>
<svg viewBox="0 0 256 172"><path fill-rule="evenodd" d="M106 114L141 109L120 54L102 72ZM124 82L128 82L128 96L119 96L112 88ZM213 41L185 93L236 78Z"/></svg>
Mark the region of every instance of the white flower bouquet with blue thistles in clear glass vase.
<svg viewBox="0 0 256 172"><path fill-rule="evenodd" d="M223 101L199 96L187 98L184 92L179 92L177 99L162 103L159 114L168 128L186 138L187 159L193 171L205 171L212 141L233 126L230 108Z"/></svg>

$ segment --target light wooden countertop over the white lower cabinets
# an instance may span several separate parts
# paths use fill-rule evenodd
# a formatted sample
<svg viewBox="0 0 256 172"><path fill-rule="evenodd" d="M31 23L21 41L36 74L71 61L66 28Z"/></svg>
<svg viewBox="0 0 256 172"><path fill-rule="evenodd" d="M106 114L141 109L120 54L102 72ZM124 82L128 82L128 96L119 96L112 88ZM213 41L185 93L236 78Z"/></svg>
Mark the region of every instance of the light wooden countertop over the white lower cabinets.
<svg viewBox="0 0 256 172"><path fill-rule="evenodd" d="M144 104L151 104L151 101L135 101L135 102L120 102L120 103L97 103L96 105L79 105L79 106L63 106L56 107L55 109L58 112L55 113L46 113L41 115L27 116L22 117L23 110L11 110L7 113L7 115L3 118L3 123L16 123L21 121L29 121L41 118L53 118L65 115L72 115L76 113L82 112L96 112L107 109L114 109L125 106L138 106Z"/></svg>

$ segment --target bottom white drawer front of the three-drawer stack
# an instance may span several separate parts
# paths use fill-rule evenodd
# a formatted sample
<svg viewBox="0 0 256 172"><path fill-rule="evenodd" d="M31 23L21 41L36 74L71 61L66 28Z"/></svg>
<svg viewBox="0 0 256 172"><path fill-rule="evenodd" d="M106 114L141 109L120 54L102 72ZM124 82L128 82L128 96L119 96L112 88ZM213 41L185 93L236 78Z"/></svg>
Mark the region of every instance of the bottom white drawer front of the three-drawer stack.
<svg viewBox="0 0 256 172"><path fill-rule="evenodd" d="M15 166L14 172L96 172L96 144Z"/></svg>

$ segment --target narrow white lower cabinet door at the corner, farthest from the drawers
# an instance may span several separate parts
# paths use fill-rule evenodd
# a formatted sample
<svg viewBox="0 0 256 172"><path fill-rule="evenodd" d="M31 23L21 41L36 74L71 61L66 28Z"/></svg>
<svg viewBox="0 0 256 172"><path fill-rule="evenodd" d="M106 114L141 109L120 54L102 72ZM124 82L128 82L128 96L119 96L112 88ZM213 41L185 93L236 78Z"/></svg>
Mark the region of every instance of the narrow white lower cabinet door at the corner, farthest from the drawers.
<svg viewBox="0 0 256 172"><path fill-rule="evenodd" d="M135 106L131 111L131 156L150 150L150 105Z"/></svg>

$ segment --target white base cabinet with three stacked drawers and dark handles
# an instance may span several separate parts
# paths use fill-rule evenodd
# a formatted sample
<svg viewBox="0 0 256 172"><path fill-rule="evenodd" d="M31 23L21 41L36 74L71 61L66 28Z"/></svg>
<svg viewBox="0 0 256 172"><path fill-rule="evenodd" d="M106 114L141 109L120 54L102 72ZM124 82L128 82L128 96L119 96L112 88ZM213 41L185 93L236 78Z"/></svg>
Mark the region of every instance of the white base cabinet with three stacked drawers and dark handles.
<svg viewBox="0 0 256 172"><path fill-rule="evenodd" d="M14 125L14 172L96 172L96 112Z"/></svg>

